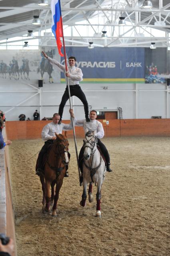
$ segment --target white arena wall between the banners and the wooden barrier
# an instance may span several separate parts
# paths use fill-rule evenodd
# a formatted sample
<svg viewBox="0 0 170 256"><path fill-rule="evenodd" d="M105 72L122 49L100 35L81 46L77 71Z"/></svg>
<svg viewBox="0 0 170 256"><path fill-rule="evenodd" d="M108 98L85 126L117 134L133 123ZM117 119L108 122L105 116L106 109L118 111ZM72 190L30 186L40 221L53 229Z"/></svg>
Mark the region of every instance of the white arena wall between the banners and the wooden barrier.
<svg viewBox="0 0 170 256"><path fill-rule="evenodd" d="M0 86L0 110L5 112L8 121L18 121L20 114L33 120L36 109L40 120L44 116L49 118L58 112L65 87L61 83L44 83L39 88L38 80L32 85L28 81L4 79ZM89 110L115 111L121 107L124 119L170 117L170 89L166 84L81 83L81 88L88 100ZM75 96L72 97L72 106L76 118L84 118L83 104ZM70 118L69 108L68 101L64 107L64 120Z"/></svg>

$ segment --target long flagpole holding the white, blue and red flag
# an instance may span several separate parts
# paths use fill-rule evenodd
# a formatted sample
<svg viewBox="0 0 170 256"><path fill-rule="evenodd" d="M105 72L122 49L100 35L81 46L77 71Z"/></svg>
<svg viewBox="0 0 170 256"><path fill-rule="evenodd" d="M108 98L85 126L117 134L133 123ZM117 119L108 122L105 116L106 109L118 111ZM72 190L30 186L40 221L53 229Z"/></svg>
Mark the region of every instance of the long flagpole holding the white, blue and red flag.
<svg viewBox="0 0 170 256"><path fill-rule="evenodd" d="M58 1L59 1L59 4L60 4L60 0L58 0ZM63 48L64 48L64 59L65 59L65 65L66 65L66 73L68 73L66 49L65 49L65 42L64 42L64 32L63 32L63 26L62 26L61 4L60 4L60 17L61 17L61 27L62 27L62 41L63 41ZM68 87L68 95L69 95L69 101L70 101L70 108L72 109L72 102L71 102L71 96L70 96L70 86L69 86L68 77L66 77L66 79L67 79L67 87ZM75 148L76 148L78 176L79 176L79 179L80 179L80 167L79 167L79 164L78 164L78 151L77 151L76 133L75 133L74 122L73 122L73 118L72 117L71 117L71 121L72 121L73 134L74 134L74 144L75 144Z"/></svg>

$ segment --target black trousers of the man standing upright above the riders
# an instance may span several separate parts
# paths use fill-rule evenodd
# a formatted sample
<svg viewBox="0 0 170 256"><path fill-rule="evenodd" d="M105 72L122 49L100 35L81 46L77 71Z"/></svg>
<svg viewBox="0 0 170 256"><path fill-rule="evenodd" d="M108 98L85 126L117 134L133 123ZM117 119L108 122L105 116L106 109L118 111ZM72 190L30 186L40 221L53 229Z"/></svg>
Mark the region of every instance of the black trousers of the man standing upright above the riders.
<svg viewBox="0 0 170 256"><path fill-rule="evenodd" d="M88 117L88 102L86 100L86 96L84 94L84 92L82 91L80 85L70 85L70 96L76 96L77 98L79 98L83 105L84 105L84 112L85 112L85 117ZM64 110L64 106L66 105L67 100L69 99L69 95L68 95L68 87L66 87L64 94L62 96L62 100L59 106L59 110L58 110L58 114L60 115L60 118L62 118L62 113Z"/></svg>

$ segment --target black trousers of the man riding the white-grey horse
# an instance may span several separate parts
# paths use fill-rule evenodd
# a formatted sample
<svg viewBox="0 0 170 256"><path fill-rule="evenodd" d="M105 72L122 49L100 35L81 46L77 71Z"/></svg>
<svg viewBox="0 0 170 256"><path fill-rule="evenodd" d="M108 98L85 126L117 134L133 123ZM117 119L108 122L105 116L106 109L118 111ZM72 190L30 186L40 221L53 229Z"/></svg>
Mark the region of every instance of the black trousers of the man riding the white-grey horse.
<svg viewBox="0 0 170 256"><path fill-rule="evenodd" d="M106 164L110 164L110 156L109 156L109 152L108 152L106 146L99 139L98 139L97 144L100 146L100 149L102 150L102 153L104 154L104 157L106 158ZM82 148L80 149L79 156L78 156L78 164L79 164L81 173L83 172L82 171L82 169L83 169L82 168L82 166L83 166L83 154L84 154L84 147L82 146Z"/></svg>

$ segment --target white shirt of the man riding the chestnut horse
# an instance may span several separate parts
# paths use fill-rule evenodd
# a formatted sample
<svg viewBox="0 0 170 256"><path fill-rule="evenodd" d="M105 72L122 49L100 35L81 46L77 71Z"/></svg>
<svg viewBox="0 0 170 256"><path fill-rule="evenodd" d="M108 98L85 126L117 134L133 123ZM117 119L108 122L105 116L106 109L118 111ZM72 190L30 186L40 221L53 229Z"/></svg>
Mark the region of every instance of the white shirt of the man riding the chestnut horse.
<svg viewBox="0 0 170 256"><path fill-rule="evenodd" d="M73 122L75 124L75 118L73 118ZM70 124L54 124L53 122L46 124L42 129L41 137L44 141L52 140L52 137L56 136L55 132L62 134L62 130L72 130L72 122Z"/></svg>

